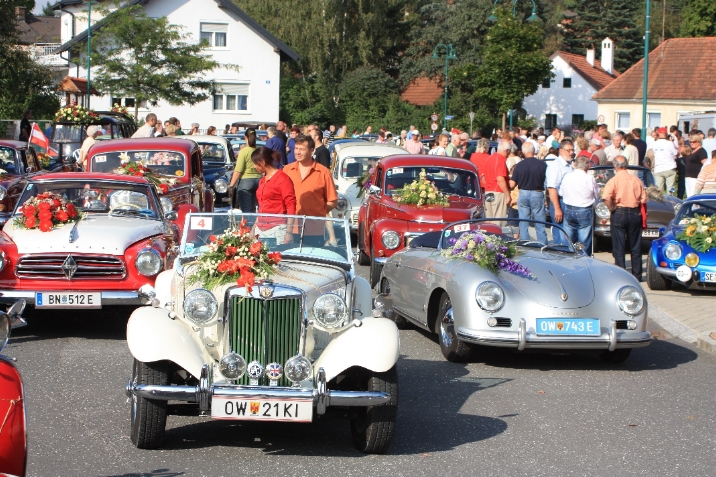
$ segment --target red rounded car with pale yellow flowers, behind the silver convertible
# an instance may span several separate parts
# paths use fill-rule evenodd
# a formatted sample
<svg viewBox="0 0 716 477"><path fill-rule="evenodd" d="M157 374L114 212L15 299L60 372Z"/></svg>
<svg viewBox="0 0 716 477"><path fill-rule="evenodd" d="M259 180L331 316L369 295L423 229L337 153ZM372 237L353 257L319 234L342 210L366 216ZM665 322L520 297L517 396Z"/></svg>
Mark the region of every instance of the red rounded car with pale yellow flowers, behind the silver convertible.
<svg viewBox="0 0 716 477"><path fill-rule="evenodd" d="M396 202L393 194L419 178L422 170L450 205L415 206ZM477 168L470 161L442 156L389 156L373 170L371 186L360 209L358 252L361 265L370 264L375 286L388 257L412 239L445 224L482 215L483 202Z"/></svg>

